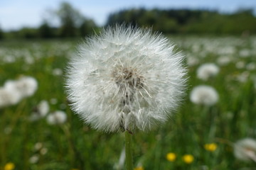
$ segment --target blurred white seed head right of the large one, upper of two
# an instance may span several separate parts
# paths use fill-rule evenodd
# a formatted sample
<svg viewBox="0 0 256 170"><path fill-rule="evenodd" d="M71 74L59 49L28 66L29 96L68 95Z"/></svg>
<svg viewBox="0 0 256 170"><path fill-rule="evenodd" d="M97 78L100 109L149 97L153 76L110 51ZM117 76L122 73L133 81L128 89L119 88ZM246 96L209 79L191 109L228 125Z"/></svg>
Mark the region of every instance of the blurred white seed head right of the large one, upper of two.
<svg viewBox="0 0 256 170"><path fill-rule="evenodd" d="M197 77L198 79L208 80L210 77L214 77L220 71L219 67L213 63L206 63L198 67Z"/></svg>

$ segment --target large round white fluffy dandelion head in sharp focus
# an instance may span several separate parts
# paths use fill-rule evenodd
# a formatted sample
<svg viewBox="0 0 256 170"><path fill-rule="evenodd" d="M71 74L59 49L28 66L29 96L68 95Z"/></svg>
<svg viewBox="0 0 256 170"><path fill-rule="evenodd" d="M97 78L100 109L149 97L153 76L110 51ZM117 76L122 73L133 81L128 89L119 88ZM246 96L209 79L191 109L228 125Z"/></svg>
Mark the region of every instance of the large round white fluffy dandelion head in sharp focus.
<svg viewBox="0 0 256 170"><path fill-rule="evenodd" d="M183 56L151 30L116 26L88 39L68 67L73 111L97 130L151 130L183 94Z"/></svg>

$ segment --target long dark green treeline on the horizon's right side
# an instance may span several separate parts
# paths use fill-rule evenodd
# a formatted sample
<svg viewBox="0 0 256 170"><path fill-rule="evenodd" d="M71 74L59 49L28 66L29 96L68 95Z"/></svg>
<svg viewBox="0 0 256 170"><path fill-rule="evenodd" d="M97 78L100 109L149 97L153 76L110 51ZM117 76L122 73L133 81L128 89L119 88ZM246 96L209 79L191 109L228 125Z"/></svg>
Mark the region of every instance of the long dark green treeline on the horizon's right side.
<svg viewBox="0 0 256 170"><path fill-rule="evenodd" d="M208 10L133 8L110 14L107 25L124 21L163 33L256 33L256 17L251 9L228 14Z"/></svg>

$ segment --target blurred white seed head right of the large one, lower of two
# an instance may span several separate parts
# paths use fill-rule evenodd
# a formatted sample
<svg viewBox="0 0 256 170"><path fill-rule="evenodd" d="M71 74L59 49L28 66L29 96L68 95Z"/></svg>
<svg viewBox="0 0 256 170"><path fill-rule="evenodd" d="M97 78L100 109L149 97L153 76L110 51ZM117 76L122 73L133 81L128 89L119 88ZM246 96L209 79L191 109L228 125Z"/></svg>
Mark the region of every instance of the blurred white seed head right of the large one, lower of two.
<svg viewBox="0 0 256 170"><path fill-rule="evenodd" d="M190 99L196 104L213 106L218 101L218 93L211 86L196 86L191 91Z"/></svg>

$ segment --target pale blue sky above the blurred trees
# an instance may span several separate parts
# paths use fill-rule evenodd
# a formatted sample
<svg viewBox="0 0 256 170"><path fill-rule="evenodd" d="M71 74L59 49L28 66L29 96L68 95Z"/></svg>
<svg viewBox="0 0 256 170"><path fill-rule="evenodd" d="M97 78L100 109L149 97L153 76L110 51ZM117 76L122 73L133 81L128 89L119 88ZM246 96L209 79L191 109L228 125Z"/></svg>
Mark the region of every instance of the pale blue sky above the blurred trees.
<svg viewBox="0 0 256 170"><path fill-rule="evenodd" d="M57 9L63 0L1 0L0 28L17 29L38 26L46 18L47 9ZM145 8L203 8L233 12L238 8L254 8L256 0L66 0L87 18L103 25L107 16L120 9Z"/></svg>

